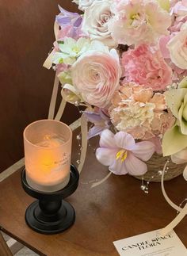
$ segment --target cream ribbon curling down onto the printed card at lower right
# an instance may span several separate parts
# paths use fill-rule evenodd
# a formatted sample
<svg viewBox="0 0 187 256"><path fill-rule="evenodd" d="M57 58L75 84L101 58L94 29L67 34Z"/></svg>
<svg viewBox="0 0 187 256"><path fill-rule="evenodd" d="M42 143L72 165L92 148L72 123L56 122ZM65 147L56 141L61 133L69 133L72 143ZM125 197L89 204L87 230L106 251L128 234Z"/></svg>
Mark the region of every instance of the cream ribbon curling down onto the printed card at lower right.
<svg viewBox="0 0 187 256"><path fill-rule="evenodd" d="M180 213L176 216L176 218L174 218L173 221L170 222L170 224L168 224L166 227L162 228L161 235L163 235L163 236L170 233L170 231L172 231L174 229L174 227L176 227L177 224L179 224L181 222L181 220L183 218L185 218L185 216L187 215L187 204L185 204L184 208L178 207L176 204L174 204L170 200L170 198L166 194L166 190L164 188L164 174L166 171L166 165L167 165L167 162L166 162L166 164L163 168L163 172L162 172L162 179L161 179L162 193L163 193L163 196L165 197L166 201L168 202L168 204L170 204L171 207L173 207L175 210L177 210L177 212L180 212Z"/></svg>

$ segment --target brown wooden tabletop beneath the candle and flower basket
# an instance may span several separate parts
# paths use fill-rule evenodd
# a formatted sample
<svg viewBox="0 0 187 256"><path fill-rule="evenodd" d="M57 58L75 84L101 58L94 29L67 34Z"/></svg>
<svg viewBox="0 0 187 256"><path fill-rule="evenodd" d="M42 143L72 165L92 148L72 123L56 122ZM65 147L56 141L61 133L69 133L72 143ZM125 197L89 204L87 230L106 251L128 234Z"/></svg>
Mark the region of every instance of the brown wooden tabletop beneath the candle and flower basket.
<svg viewBox="0 0 187 256"><path fill-rule="evenodd" d="M75 162L76 139L73 145ZM176 216L158 183L151 183L150 193L145 194L137 179L112 175L102 185L90 189L87 183L104 178L108 170L97 162L89 147L78 189L67 198L76 211L74 226L58 235L41 235L25 224L25 209L34 199L21 188L20 174L21 170L17 170L0 183L0 227L41 255L118 255L113 241L165 227ZM166 181L166 191L179 204L187 196L186 181L182 177ZM187 217L175 231L187 246Z"/></svg>

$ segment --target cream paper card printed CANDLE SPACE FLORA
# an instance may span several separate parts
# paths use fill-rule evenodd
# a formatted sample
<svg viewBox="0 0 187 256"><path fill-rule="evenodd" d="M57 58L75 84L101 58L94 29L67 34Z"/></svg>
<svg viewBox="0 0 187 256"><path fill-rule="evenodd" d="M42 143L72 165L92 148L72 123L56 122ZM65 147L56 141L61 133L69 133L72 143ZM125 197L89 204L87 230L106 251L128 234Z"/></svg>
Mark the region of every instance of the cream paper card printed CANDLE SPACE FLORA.
<svg viewBox="0 0 187 256"><path fill-rule="evenodd" d="M135 235L114 243L124 256L187 256L187 250L174 231L162 236L160 230Z"/></svg>

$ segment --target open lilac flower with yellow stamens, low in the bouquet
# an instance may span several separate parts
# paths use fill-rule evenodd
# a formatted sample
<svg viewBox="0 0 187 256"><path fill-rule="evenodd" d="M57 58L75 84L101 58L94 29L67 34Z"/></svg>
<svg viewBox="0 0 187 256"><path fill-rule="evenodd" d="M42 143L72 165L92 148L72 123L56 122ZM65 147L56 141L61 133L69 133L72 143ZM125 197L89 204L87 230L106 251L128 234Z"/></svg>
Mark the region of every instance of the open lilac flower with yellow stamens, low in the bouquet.
<svg viewBox="0 0 187 256"><path fill-rule="evenodd" d="M154 152L155 145L149 141L135 143L135 139L126 132L114 135L106 129L101 133L96 157L114 174L143 175L147 172L143 161L151 159Z"/></svg>

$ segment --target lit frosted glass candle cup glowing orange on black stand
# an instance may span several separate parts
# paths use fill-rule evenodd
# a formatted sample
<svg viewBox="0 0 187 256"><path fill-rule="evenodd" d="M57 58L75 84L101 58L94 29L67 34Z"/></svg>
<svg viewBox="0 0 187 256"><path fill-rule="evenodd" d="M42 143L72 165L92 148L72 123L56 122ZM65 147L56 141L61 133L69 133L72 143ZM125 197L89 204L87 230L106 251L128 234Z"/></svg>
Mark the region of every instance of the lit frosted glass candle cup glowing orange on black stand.
<svg viewBox="0 0 187 256"><path fill-rule="evenodd" d="M38 120L24 131L25 171L36 190L54 192L70 179L72 132L57 120Z"/></svg>

